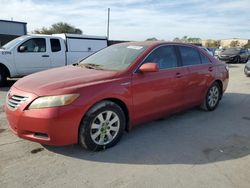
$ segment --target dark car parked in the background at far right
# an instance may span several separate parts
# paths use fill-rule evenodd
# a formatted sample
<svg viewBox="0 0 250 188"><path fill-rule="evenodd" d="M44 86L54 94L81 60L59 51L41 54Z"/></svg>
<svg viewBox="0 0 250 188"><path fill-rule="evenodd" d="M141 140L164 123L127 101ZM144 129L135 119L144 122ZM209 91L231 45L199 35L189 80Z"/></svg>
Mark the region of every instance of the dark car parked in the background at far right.
<svg viewBox="0 0 250 188"><path fill-rule="evenodd" d="M249 59L248 49L245 48L228 48L222 51L219 60L232 63L246 63Z"/></svg>

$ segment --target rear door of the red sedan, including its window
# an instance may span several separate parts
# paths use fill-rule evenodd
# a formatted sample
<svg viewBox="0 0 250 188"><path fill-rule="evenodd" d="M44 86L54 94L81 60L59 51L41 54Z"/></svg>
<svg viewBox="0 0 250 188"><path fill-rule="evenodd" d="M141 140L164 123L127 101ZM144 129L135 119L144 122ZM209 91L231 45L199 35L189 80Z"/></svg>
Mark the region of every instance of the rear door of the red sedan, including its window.
<svg viewBox="0 0 250 188"><path fill-rule="evenodd" d="M185 105L198 105L203 100L209 83L214 79L215 69L211 61L190 46L179 46L182 66L188 68L186 90L184 91Z"/></svg>

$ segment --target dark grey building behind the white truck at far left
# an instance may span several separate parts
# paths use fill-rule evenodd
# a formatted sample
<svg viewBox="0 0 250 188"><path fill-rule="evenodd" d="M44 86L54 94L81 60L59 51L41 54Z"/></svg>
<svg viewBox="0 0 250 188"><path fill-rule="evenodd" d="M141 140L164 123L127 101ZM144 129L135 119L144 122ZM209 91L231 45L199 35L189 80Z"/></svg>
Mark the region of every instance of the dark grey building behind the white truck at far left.
<svg viewBox="0 0 250 188"><path fill-rule="evenodd" d="M0 20L0 46L27 34L27 23L9 20Z"/></svg>

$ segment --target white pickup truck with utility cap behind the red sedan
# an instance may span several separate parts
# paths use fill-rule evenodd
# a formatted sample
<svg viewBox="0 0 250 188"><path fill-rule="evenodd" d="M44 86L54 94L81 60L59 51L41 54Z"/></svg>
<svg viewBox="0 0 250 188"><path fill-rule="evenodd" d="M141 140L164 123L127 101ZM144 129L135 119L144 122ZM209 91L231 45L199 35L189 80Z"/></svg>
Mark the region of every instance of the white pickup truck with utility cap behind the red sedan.
<svg viewBox="0 0 250 188"><path fill-rule="evenodd" d="M76 34L24 35L0 48L0 86L21 77L66 66L107 47L107 38Z"/></svg>

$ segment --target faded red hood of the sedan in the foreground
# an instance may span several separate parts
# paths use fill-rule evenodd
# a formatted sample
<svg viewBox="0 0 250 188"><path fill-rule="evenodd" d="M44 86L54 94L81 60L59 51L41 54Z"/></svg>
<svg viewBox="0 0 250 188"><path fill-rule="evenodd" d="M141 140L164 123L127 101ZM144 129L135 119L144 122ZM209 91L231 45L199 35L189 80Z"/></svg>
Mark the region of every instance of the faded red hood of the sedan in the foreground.
<svg viewBox="0 0 250 188"><path fill-rule="evenodd" d="M116 78L114 71L94 70L78 66L66 66L31 74L18 80L13 87L38 96L74 92L95 82Z"/></svg>

